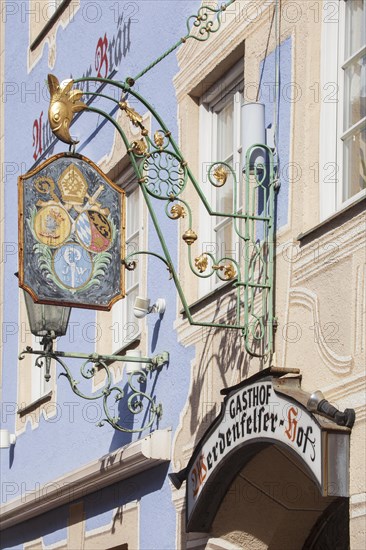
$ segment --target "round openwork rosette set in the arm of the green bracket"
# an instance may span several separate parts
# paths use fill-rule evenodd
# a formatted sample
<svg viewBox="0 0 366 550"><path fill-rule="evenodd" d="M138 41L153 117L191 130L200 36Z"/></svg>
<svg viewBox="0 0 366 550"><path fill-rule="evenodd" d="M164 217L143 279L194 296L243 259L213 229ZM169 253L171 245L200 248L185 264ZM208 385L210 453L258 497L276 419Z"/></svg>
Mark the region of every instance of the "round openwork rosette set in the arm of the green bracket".
<svg viewBox="0 0 366 550"><path fill-rule="evenodd" d="M177 197L187 181L187 170L173 153L156 151L144 161L145 185L157 199Z"/></svg>

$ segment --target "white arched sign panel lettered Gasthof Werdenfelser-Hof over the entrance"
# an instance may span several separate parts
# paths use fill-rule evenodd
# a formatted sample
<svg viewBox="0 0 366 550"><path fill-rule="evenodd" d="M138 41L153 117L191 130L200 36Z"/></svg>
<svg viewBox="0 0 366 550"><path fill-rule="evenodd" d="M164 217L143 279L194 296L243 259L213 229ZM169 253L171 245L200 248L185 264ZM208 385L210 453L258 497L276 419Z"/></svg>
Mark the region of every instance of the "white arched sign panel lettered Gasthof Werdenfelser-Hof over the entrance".
<svg viewBox="0 0 366 550"><path fill-rule="evenodd" d="M321 427L299 403L274 391L271 380L256 382L225 398L220 416L198 445L187 473L187 518L212 474L248 442L282 443L322 482Z"/></svg>

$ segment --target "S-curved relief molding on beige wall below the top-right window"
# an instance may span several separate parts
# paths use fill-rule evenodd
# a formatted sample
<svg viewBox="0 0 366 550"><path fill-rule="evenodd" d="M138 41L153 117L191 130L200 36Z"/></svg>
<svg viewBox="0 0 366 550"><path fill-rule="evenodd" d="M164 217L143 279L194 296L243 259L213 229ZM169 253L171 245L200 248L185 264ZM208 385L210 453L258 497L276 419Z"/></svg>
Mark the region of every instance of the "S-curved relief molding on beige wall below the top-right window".
<svg viewBox="0 0 366 550"><path fill-rule="evenodd" d="M314 325L319 327L319 335L316 339L317 351L325 366L335 374L348 374L353 367L351 355L339 355L327 346L320 324L319 300L312 290L297 287L289 289L289 305L303 306L310 310L313 316Z"/></svg>

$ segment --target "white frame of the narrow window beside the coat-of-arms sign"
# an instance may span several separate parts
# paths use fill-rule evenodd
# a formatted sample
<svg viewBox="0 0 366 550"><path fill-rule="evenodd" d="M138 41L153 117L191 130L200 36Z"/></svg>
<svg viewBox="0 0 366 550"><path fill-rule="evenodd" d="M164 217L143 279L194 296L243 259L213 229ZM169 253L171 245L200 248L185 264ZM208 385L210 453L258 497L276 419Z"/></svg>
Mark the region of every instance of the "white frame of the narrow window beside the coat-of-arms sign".
<svg viewBox="0 0 366 550"><path fill-rule="evenodd" d="M129 254L128 243L138 235L138 249L143 249L144 242L144 204L136 176L131 168L122 172L116 179L116 183L121 185L126 192L126 254ZM128 235L128 215L129 215L129 196L131 193L138 193L138 220L139 230ZM137 319L133 315L133 306L128 304L128 293L137 290L137 295L144 295L142 285L142 256L136 256L138 276L137 283L131 288L127 287L128 273L126 270L126 296L119 300L112 307L112 353L118 353L121 350L131 346L134 342L141 339L142 323L144 320ZM131 325L131 326L130 326Z"/></svg>

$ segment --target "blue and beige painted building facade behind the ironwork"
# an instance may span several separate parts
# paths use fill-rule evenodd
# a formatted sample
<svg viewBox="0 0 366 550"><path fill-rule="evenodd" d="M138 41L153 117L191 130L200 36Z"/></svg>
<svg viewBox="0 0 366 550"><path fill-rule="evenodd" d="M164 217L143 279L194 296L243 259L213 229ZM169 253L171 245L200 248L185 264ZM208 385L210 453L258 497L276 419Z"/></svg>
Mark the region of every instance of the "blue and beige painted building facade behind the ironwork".
<svg viewBox="0 0 366 550"><path fill-rule="evenodd" d="M365 2L236 0L220 11L220 24L218 6L210 7L199 12L200 2L109 0L1 5L1 428L16 435L15 444L0 451L1 548L364 547ZM192 14L200 18L189 19L189 28L207 29L207 14L210 30L182 39L143 73L187 37ZM141 386L162 404L162 416L146 431L131 430L146 426L149 408L135 417L125 405L109 405L129 431L108 422L97 427L105 416L100 400L75 395L55 361L46 381L45 367L32 355L18 359L27 346L40 344L14 277L20 269L17 178L68 151L47 119L49 73L60 82L135 81L127 93L101 80L74 86L94 109L70 127L75 151L125 191L126 254L137 261L125 269L126 297L108 312L73 308L56 347L122 356L137 349L146 357L168 352L168 364L148 373ZM276 166L272 180L260 184L249 165L242 173L243 136L263 143L241 115L251 103L264 106L263 139ZM130 147L101 111L118 121ZM154 154L142 150L136 157L133 144L147 142L147 135L162 159L159 138L178 144L183 157L177 153L174 181L181 182L179 170L187 180L179 191L169 188L165 161L157 169ZM144 181L131 167L133 155L146 163ZM223 184L211 185L214 163L226 167ZM166 200L156 200L164 185ZM272 222L261 229L259 218L268 214L271 185L274 232L266 233L263 248ZM184 202L177 199L181 190ZM252 222L240 221L247 196L255 201L251 239ZM233 215L216 214L227 211ZM139 251L149 254L133 256ZM207 268L212 258L217 265ZM235 287L243 262L254 278L246 273ZM273 294L261 286L263 277L273 282ZM151 303L164 298L164 314L136 318L138 296ZM245 300L251 300L249 320L230 328ZM260 307L258 329L250 315ZM108 364L113 384L127 397L128 365ZM72 360L70 369L83 384L80 362ZM106 382L103 369L94 374L87 381L91 397ZM355 421L337 423L330 409L314 413L308 397L316 390L338 414L353 410ZM256 391L264 408L252 439L252 405L244 394ZM235 432L237 418L245 420L245 436L244 429L240 437L239 427ZM287 426L283 441L275 418Z"/></svg>

